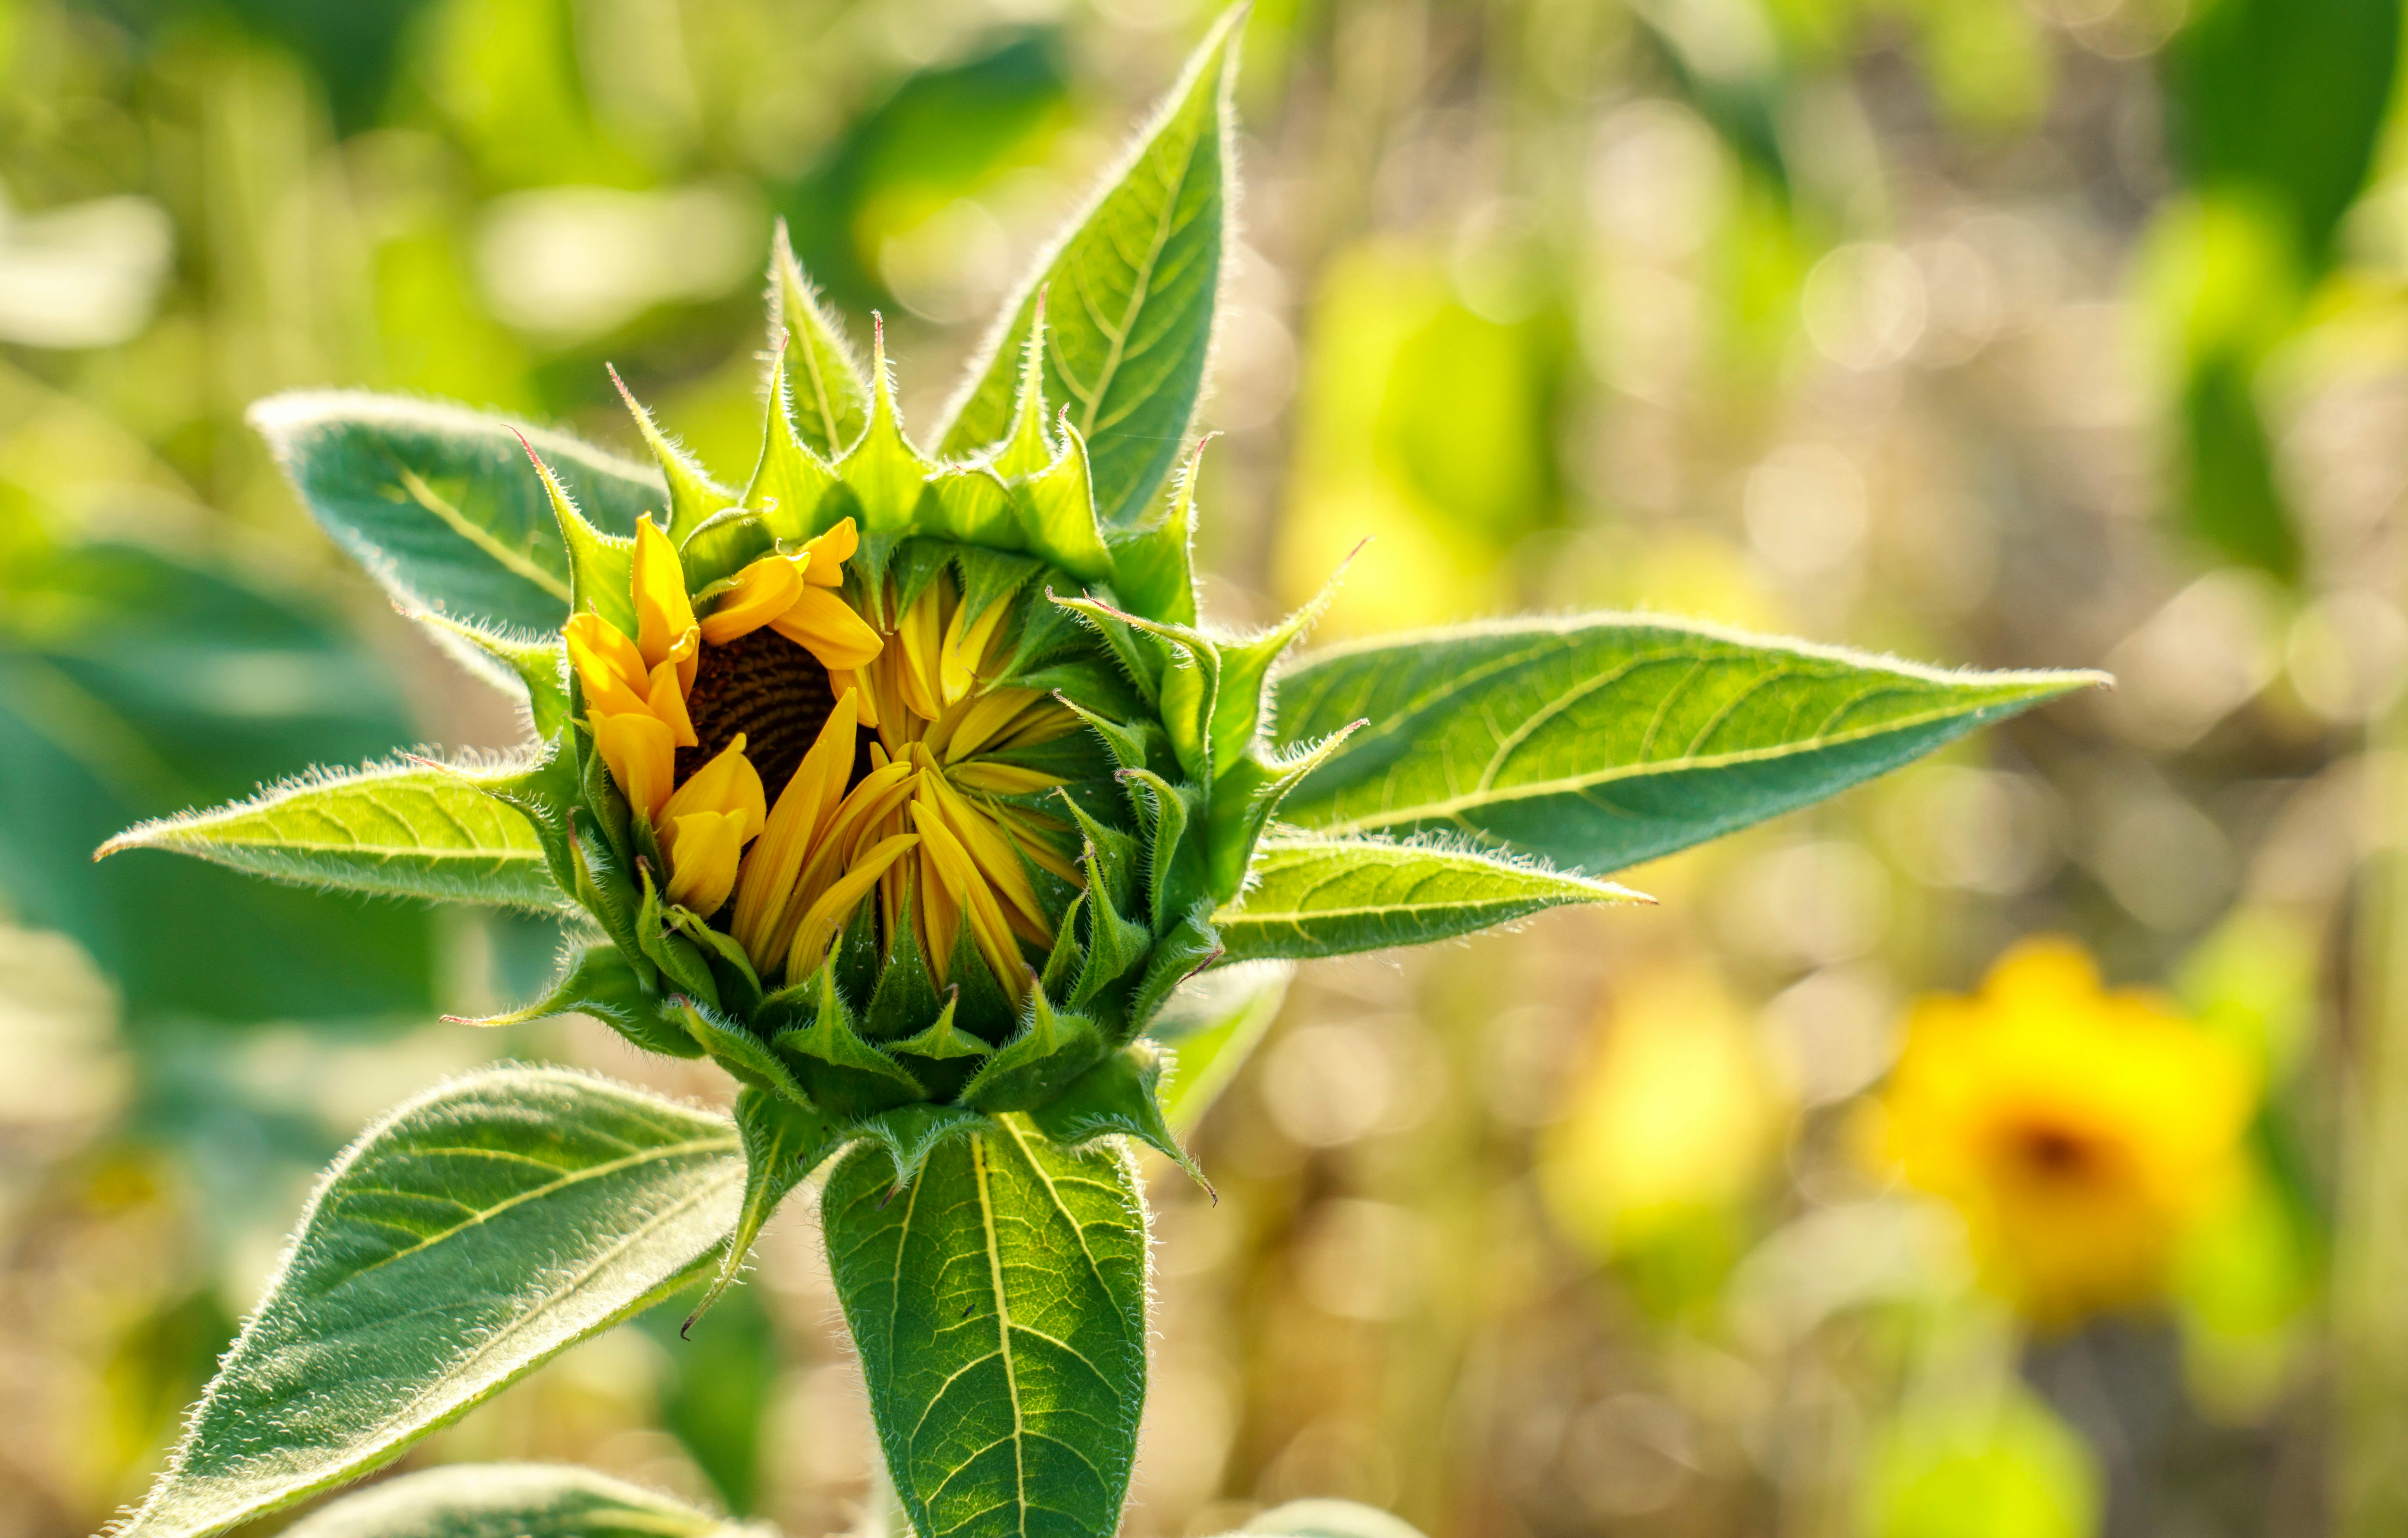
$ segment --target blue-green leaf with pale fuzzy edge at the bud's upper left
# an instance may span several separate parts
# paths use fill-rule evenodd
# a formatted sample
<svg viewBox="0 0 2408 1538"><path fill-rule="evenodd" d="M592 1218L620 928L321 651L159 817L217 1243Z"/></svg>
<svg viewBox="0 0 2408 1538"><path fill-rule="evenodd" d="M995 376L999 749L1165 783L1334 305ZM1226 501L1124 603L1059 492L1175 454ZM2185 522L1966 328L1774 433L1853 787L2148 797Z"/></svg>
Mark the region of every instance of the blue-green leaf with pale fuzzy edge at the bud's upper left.
<svg viewBox="0 0 2408 1538"><path fill-rule="evenodd" d="M520 433L602 532L660 510L660 477L566 433L467 407L356 390L250 407L277 465L327 534L405 609L559 631L568 554Z"/></svg>

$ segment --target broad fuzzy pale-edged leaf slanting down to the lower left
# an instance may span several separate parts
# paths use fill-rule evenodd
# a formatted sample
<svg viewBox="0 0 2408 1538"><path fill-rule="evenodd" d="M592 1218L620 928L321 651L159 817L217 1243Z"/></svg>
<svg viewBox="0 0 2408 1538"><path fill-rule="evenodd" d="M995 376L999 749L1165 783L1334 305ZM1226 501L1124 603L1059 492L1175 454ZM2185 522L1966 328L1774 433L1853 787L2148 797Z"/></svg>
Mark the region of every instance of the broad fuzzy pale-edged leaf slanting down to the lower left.
<svg viewBox="0 0 2408 1538"><path fill-rule="evenodd" d="M397 1456L694 1280L737 1225L722 1117L563 1069L402 1105L327 1170L118 1538L197 1538Z"/></svg>

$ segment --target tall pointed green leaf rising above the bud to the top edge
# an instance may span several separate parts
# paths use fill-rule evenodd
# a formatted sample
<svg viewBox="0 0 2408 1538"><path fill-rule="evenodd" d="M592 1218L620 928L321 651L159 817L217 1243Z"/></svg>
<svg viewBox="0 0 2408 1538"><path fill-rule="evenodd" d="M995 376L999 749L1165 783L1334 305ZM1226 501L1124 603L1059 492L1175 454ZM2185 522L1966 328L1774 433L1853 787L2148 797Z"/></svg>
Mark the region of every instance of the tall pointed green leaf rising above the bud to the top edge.
<svg viewBox="0 0 2408 1538"><path fill-rule="evenodd" d="M1096 515L1137 520L1178 462L1211 351L1228 246L1228 89L1243 7L1187 60L1153 128L987 339L939 433L968 457L1011 428L1021 349L1045 306L1045 402L1086 436Z"/></svg>

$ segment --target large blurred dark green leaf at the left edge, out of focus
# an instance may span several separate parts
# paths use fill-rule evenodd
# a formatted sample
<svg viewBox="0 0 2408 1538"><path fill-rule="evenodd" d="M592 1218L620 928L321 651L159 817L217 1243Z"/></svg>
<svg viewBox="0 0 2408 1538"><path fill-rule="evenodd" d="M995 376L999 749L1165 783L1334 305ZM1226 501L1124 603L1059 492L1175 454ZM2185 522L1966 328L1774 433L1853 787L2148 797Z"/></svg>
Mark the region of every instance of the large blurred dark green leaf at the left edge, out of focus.
<svg viewBox="0 0 2408 1538"><path fill-rule="evenodd" d="M135 1025L433 1006L424 910L185 859L92 864L142 818L414 739L366 647L229 566L125 544L0 566L0 888L111 972Z"/></svg>

